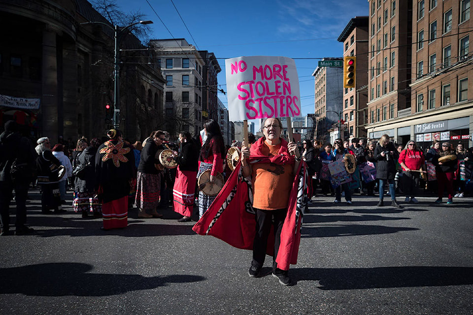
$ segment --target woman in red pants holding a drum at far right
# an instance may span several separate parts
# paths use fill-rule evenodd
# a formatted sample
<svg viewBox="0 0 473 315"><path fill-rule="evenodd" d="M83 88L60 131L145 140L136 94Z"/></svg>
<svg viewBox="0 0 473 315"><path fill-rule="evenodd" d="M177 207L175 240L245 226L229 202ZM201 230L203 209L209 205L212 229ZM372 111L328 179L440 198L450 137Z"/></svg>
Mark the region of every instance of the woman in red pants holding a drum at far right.
<svg viewBox="0 0 473 315"><path fill-rule="evenodd" d="M450 142L442 143L442 150L432 159L432 164L435 165L439 185L439 198L435 202L442 202L443 191L446 188L448 192L447 205L451 205L453 203L453 181L457 169L457 156L452 150Z"/></svg>

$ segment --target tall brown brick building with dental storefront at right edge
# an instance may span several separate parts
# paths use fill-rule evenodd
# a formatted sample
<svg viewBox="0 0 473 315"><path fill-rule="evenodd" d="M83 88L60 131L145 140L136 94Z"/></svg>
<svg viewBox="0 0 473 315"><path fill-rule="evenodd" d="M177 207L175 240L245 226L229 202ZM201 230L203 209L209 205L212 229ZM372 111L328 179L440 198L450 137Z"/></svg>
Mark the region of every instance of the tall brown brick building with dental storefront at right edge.
<svg viewBox="0 0 473 315"><path fill-rule="evenodd" d="M471 0L371 0L368 137L472 146Z"/></svg>

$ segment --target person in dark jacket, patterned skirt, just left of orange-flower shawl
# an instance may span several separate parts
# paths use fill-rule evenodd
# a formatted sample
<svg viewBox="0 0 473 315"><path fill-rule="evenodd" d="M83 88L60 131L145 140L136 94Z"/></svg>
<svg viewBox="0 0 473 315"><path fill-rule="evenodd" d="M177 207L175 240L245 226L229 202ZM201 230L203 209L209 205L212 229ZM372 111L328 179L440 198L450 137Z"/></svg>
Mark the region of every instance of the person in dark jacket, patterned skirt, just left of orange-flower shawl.
<svg viewBox="0 0 473 315"><path fill-rule="evenodd" d="M84 169L75 176L74 179L74 200L72 208L75 212L80 212L82 218L87 218L89 212L98 218L101 215L101 202L97 198L95 185L95 155L100 146L100 141L94 138L90 141L90 146L85 148L77 156L77 165L84 166Z"/></svg>

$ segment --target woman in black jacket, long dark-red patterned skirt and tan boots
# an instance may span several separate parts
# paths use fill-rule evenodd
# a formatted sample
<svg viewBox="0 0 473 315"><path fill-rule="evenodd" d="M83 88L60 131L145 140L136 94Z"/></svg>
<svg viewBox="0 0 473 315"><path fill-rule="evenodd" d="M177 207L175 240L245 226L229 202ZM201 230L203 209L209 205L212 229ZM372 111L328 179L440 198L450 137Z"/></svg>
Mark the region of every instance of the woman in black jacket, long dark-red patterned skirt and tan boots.
<svg viewBox="0 0 473 315"><path fill-rule="evenodd" d="M158 130L151 139L146 141L143 150L141 150L135 197L135 207L139 208L138 218L140 219L163 218L162 214L156 212L156 208L159 205L164 166L156 157L156 153L158 150L166 149L163 146L165 140L165 133ZM150 214L146 211L149 211Z"/></svg>

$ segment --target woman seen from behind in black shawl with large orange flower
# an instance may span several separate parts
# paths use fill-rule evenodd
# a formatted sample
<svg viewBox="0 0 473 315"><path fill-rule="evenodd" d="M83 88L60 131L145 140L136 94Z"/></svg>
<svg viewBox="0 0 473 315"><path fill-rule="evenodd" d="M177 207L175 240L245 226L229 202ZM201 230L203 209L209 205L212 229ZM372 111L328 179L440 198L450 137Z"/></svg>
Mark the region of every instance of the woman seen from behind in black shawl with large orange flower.
<svg viewBox="0 0 473 315"><path fill-rule="evenodd" d="M120 130L107 131L95 156L96 189L102 202L103 230L128 225L130 179L135 176L133 147L122 139Z"/></svg>

